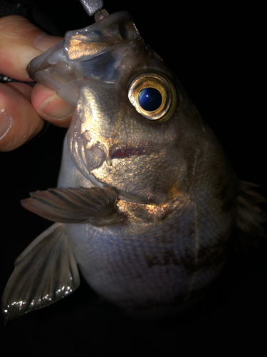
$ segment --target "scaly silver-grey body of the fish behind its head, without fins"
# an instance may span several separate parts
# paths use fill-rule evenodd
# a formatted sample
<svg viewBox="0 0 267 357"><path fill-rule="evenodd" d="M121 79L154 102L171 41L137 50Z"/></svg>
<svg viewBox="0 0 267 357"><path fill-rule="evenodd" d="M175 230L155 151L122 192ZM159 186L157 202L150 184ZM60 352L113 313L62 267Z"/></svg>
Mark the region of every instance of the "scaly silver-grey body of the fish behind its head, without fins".
<svg viewBox="0 0 267 357"><path fill-rule="evenodd" d="M66 141L58 186L91 186L70 159ZM136 317L167 316L199 298L224 266L234 215L221 221L214 208L206 214L189 197L158 207L117 205L127 214L120 225L64 224L90 286Z"/></svg>

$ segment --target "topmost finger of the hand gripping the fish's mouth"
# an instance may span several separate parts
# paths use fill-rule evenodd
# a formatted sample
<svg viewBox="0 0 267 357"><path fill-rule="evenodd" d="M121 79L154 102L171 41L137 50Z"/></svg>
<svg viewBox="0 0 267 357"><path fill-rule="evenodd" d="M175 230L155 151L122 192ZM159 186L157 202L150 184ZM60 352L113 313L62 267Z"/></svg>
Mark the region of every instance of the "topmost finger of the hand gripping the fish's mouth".
<svg viewBox="0 0 267 357"><path fill-rule="evenodd" d="M29 62L61 37L49 36L22 16L0 19L0 73L19 81L31 81L26 71Z"/></svg>

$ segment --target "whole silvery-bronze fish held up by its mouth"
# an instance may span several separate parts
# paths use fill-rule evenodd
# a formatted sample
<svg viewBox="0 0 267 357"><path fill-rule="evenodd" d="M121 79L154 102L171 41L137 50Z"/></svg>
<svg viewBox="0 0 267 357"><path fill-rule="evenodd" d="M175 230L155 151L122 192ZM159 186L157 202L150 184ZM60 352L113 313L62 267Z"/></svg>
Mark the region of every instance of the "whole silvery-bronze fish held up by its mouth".
<svg viewBox="0 0 267 357"><path fill-rule="evenodd" d="M127 12L70 31L29 71L77 109L58 188L22 202L57 223L16 260L6 320L75 291L77 265L130 316L174 314L219 275L236 228L264 235L256 206L264 198L236 179L213 131ZM142 108L143 88L159 92L163 111Z"/></svg>

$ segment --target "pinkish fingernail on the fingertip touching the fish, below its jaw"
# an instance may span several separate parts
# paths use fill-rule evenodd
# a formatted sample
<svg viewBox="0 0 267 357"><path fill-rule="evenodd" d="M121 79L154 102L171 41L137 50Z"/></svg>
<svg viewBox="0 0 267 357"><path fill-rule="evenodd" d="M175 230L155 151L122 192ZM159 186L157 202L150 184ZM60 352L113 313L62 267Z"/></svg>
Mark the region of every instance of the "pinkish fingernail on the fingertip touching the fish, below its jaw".
<svg viewBox="0 0 267 357"><path fill-rule="evenodd" d="M73 114L74 107L55 95L46 99L41 105L40 110L44 118L49 116L53 119L63 120Z"/></svg>

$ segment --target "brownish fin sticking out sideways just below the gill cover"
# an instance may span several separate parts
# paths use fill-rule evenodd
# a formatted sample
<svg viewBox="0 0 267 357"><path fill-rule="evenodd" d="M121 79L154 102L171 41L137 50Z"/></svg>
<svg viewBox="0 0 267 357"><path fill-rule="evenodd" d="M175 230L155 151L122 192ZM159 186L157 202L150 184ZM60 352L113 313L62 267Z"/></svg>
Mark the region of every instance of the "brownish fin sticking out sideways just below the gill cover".
<svg viewBox="0 0 267 357"><path fill-rule="evenodd" d="M31 193L21 201L23 207L50 221L60 223L89 222L104 226L120 221L117 192L103 188L48 188Z"/></svg>

